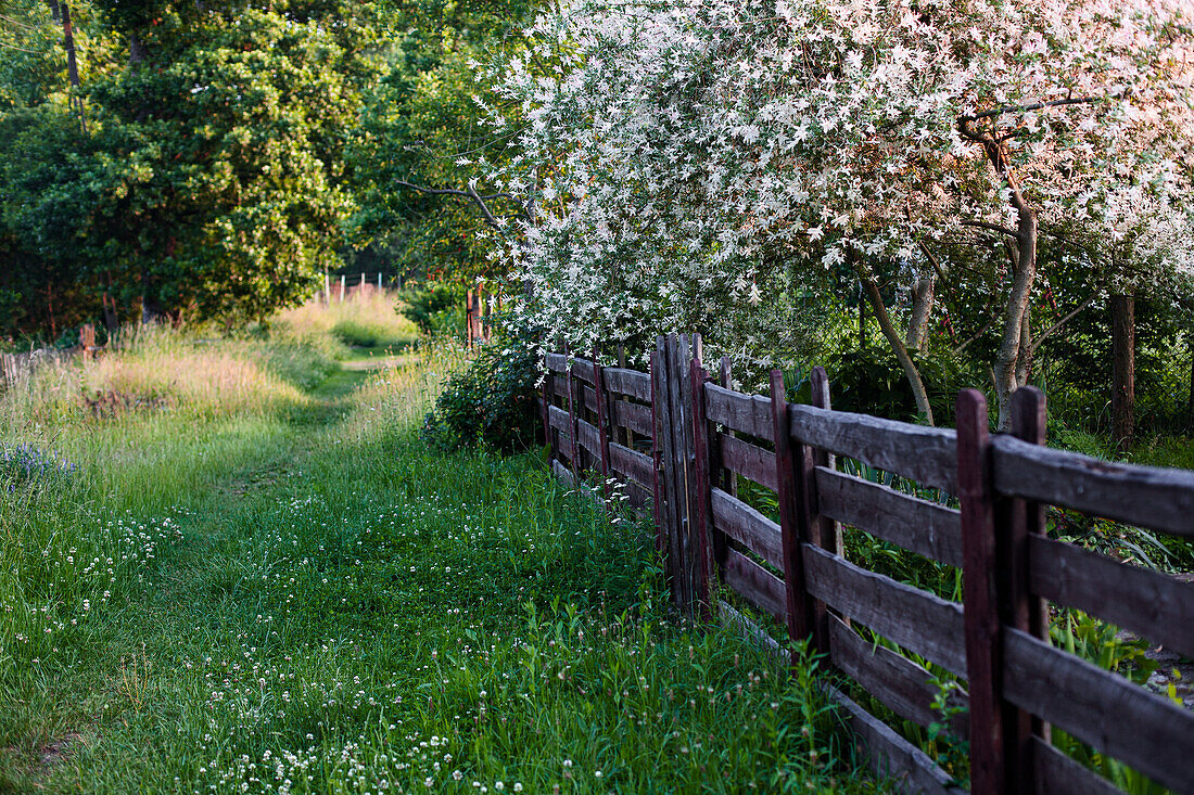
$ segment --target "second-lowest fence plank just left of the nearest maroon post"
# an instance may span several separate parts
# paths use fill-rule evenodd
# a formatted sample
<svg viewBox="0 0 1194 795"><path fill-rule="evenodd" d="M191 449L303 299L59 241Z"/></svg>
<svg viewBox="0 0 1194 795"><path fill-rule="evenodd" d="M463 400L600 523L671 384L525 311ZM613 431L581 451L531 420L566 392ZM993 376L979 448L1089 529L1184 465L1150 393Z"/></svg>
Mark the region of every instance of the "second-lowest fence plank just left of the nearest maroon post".
<svg viewBox="0 0 1194 795"><path fill-rule="evenodd" d="M827 622L830 661L838 670L900 717L925 727L941 722L942 716L933 707L937 689L933 685L931 673L885 646L867 642L837 616L829 616ZM955 705L967 703L965 696L954 700ZM966 738L970 734L968 715L958 715L950 731Z"/></svg>

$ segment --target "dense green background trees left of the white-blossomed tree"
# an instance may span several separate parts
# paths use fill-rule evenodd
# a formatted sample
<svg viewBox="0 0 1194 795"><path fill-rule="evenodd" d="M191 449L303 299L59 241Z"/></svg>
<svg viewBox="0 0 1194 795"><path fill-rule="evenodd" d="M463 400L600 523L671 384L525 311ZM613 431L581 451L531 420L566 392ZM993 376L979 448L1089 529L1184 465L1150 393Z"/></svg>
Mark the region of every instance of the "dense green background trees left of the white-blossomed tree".
<svg viewBox="0 0 1194 795"><path fill-rule="evenodd" d="M0 335L260 319L346 259L486 271L479 208L418 189L463 181L468 60L524 6L68 5L0 1Z"/></svg>

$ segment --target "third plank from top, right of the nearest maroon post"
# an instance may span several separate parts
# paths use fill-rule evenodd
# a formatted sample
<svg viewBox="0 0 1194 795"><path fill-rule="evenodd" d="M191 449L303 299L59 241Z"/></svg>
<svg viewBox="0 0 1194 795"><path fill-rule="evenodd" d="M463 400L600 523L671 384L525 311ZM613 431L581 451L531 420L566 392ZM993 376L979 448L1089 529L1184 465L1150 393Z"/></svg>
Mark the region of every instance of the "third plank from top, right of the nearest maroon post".
<svg viewBox="0 0 1194 795"><path fill-rule="evenodd" d="M1003 634L1005 698L1157 783L1190 791L1194 711L1028 633Z"/></svg>

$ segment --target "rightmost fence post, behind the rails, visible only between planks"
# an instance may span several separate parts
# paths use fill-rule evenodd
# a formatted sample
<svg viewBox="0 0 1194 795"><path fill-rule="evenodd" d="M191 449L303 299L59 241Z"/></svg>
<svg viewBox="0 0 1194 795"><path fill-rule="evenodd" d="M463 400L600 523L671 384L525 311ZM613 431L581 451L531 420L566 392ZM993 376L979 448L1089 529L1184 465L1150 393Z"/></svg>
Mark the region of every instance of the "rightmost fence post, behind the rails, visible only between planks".
<svg viewBox="0 0 1194 795"><path fill-rule="evenodd" d="M1045 393L1036 387L1021 387L1011 395L1011 435L1029 444L1042 445L1045 427ZM997 506L996 526L1007 528L1005 557L1001 566L1007 580L1001 584L1001 603L1007 605L1010 615L1004 617L1004 623L1047 643L1048 606L1028 587L1028 536L1045 534L1045 506L1018 498L1001 499ZM1013 754L1011 787L1017 791L1030 791L1034 778L1033 738L1048 745L1050 726L1030 713L1005 704L1004 728L1008 732L1008 752Z"/></svg>

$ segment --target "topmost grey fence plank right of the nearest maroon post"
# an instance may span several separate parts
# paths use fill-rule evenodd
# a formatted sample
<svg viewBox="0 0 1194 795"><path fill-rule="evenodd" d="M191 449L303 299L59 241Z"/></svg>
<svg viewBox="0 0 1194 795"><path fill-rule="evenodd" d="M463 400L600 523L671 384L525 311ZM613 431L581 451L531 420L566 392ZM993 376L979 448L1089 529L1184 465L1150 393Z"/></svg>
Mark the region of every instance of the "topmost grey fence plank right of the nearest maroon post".
<svg viewBox="0 0 1194 795"><path fill-rule="evenodd" d="M1002 494L1194 537L1194 470L1113 463L1010 436L991 444Z"/></svg>

